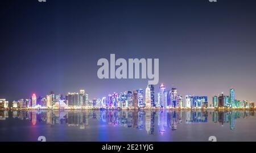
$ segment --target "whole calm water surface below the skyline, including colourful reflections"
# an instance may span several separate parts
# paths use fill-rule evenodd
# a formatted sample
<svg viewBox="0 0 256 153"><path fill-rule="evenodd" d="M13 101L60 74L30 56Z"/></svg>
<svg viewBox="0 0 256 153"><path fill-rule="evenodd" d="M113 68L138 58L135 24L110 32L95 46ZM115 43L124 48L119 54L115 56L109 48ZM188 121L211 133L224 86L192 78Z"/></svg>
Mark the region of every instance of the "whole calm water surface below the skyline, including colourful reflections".
<svg viewBox="0 0 256 153"><path fill-rule="evenodd" d="M0 111L0 141L256 141L255 111Z"/></svg>

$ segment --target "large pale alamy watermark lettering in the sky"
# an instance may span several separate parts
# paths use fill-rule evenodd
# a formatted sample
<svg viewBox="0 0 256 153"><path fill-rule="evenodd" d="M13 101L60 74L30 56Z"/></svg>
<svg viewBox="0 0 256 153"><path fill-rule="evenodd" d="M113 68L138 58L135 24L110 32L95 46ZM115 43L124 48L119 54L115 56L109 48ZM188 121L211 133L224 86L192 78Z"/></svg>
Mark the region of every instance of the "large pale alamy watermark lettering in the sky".
<svg viewBox="0 0 256 153"><path fill-rule="evenodd" d="M148 78L148 84L156 85L159 81L159 59L154 59L154 73L152 72L152 59L128 59L128 76L127 61L125 59L115 61L115 54L110 54L110 77L108 59L99 59L97 65L101 66L97 72L100 79L140 78L141 74L141 78ZM116 66L119 67L115 70Z"/></svg>

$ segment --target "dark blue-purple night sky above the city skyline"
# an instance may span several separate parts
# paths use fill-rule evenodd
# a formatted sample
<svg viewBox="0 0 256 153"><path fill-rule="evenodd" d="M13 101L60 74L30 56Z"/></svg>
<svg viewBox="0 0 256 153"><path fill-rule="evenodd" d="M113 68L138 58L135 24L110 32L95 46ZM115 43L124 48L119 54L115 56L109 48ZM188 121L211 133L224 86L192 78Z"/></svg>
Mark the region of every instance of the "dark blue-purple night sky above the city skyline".
<svg viewBox="0 0 256 153"><path fill-rule="evenodd" d="M159 83L184 97L211 102L233 87L256 101L256 2L217 1L1 1L0 98L145 89L144 79L97 77L98 59L115 53L159 58Z"/></svg>

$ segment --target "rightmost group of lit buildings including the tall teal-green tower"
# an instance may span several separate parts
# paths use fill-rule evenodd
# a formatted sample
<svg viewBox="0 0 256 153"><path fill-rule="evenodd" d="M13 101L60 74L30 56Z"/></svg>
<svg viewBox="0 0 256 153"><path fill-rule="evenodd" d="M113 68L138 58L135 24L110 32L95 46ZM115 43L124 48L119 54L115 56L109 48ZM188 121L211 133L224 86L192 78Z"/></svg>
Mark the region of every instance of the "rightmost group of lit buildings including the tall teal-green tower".
<svg viewBox="0 0 256 153"><path fill-rule="evenodd" d="M219 94L218 96L213 96L212 106L214 108L254 108L254 102L249 102L246 100L240 101L235 98L234 88L229 90L229 96L224 95L224 93Z"/></svg>

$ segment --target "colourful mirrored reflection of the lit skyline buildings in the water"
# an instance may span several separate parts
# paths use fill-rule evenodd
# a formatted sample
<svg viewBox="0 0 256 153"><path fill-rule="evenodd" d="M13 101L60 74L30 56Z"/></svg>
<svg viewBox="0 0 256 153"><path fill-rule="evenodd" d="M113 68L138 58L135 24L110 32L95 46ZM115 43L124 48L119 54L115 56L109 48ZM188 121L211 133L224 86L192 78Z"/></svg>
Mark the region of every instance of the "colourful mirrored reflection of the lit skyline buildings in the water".
<svg viewBox="0 0 256 153"><path fill-rule="evenodd" d="M254 111L167 111L167 110L17 110L0 111L0 121L17 118L28 120L35 126L37 123L57 124L86 129L90 121L100 121L100 124L145 130L147 134L160 133L167 130L179 130L179 124L219 123L229 125L234 130L236 119L254 116ZM212 119L208 119L212 117ZM156 126L158 128L156 128ZM159 131L156 131L158 129Z"/></svg>

